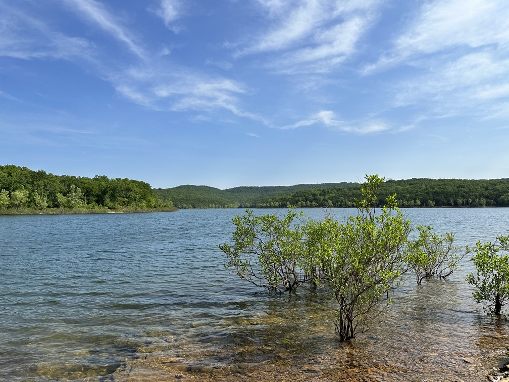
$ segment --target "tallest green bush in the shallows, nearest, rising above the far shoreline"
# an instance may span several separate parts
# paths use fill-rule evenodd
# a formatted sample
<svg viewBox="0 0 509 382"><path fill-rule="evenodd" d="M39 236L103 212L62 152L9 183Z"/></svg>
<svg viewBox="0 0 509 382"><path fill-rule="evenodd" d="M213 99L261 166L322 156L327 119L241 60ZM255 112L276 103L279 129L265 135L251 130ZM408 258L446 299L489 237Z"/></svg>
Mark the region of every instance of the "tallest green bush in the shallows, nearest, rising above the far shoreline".
<svg viewBox="0 0 509 382"><path fill-rule="evenodd" d="M335 329L341 340L365 332L388 306L390 299L380 300L401 280L411 232L395 195L387 197L381 212L376 213L376 195L384 178L371 175L365 179L363 198L356 201L358 215L341 225L326 219L323 239L320 245L314 244L338 303Z"/></svg>

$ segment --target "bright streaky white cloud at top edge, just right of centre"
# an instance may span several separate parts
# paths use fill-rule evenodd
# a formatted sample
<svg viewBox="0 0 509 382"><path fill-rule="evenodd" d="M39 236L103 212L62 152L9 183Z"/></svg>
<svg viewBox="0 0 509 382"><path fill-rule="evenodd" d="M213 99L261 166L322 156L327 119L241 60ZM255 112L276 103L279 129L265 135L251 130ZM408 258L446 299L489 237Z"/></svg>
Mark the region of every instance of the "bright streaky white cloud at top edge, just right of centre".
<svg viewBox="0 0 509 382"><path fill-rule="evenodd" d="M269 63L279 71L326 72L356 52L356 45L372 25L376 0L259 0L275 28L237 50L235 57L279 52ZM281 67L283 66L283 67Z"/></svg>

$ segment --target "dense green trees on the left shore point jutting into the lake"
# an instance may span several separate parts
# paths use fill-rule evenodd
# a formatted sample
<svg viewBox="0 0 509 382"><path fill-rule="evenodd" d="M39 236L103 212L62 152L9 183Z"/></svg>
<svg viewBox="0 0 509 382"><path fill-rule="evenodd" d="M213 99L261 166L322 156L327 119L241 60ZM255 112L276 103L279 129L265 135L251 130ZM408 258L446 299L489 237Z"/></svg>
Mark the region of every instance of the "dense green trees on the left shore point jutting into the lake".
<svg viewBox="0 0 509 382"><path fill-rule="evenodd" d="M53 175L14 165L0 166L0 209L135 209L171 207L150 184L131 179Z"/></svg>

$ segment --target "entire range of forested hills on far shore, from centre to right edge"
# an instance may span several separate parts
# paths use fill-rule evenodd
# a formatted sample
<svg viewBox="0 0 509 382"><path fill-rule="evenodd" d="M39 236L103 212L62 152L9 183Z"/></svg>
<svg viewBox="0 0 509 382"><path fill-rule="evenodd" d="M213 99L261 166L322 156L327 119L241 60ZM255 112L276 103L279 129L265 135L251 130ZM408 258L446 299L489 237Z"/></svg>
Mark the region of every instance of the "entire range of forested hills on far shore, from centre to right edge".
<svg viewBox="0 0 509 382"><path fill-rule="evenodd" d="M408 179L388 180L379 190L379 204L397 194L402 207L509 206L509 178L493 180ZM218 189L184 185L155 189L178 208L286 208L353 207L361 197L359 183L297 184L294 186Z"/></svg>

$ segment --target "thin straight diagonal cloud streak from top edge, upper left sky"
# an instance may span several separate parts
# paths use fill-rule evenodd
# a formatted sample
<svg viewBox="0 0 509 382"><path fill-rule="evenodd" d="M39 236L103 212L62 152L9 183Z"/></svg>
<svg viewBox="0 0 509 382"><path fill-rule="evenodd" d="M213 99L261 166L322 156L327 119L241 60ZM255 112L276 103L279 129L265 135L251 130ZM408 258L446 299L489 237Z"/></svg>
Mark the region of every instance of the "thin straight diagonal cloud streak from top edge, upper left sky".
<svg viewBox="0 0 509 382"><path fill-rule="evenodd" d="M136 56L145 59L143 48L134 43L133 37L130 36L127 29L106 10L104 5L95 0L65 0L65 2L68 3L72 9L99 25L103 31L126 44Z"/></svg>

